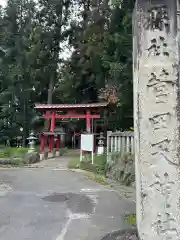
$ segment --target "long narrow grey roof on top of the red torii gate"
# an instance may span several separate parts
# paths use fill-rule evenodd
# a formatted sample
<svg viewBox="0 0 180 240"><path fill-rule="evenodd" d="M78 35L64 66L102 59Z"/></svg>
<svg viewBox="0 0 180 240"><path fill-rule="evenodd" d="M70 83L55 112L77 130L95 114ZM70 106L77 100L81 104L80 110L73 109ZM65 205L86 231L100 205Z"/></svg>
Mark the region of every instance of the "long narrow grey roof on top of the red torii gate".
<svg viewBox="0 0 180 240"><path fill-rule="evenodd" d="M63 110L63 109L86 109L107 107L108 102L102 103L81 103L81 104L35 104L37 110Z"/></svg>

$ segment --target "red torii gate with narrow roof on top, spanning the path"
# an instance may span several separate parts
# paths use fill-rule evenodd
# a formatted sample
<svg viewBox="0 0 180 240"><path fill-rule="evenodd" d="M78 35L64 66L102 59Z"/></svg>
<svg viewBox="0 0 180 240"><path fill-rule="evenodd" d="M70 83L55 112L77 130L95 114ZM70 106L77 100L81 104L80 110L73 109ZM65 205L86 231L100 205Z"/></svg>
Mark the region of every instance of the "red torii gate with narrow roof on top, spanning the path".
<svg viewBox="0 0 180 240"><path fill-rule="evenodd" d="M40 151L43 152L46 146L47 139L49 138L49 149L52 152L54 149L54 142L57 136L57 149L60 149L60 133L55 132L56 119L86 119L86 131L91 132L91 120L100 118L100 114L91 114L92 111L98 111L100 108L108 106L107 102L104 103L89 103L89 104L36 104L35 109L39 111L46 111L43 114L45 119L50 119L49 132L41 133L41 146ZM66 111L65 114L62 111ZM76 112L75 112L76 111ZM77 113L83 111L85 113ZM61 112L56 114L56 112Z"/></svg>

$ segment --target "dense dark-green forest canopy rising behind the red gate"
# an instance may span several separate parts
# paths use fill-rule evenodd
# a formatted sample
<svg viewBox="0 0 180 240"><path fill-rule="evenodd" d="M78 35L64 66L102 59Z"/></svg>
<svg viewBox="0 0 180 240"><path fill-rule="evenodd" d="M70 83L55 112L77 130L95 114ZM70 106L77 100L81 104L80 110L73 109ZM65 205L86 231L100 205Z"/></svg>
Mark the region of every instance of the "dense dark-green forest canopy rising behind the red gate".
<svg viewBox="0 0 180 240"><path fill-rule="evenodd" d="M8 0L0 8L0 135L28 136L35 103L109 101L133 125L134 0ZM66 54L68 52L68 54Z"/></svg>

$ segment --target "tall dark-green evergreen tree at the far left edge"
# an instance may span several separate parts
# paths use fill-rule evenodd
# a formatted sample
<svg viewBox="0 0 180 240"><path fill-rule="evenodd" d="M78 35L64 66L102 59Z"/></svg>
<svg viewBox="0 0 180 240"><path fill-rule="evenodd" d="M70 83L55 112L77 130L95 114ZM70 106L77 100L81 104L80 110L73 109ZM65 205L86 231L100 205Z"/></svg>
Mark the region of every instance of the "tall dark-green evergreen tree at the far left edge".
<svg viewBox="0 0 180 240"><path fill-rule="evenodd" d="M9 0L1 21L1 45L7 50L1 68L2 134L18 134L23 127L24 144L28 134L29 91L32 89L28 54L34 11L34 3L30 0Z"/></svg>

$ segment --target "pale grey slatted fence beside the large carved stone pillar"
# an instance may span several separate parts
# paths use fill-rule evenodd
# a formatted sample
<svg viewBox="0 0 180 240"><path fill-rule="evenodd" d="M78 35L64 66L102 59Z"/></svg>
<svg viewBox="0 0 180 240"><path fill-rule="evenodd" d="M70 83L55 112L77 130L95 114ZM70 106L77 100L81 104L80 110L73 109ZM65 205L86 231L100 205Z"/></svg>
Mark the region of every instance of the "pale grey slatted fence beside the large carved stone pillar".
<svg viewBox="0 0 180 240"><path fill-rule="evenodd" d="M107 155L116 152L134 154L133 132L107 132Z"/></svg>

